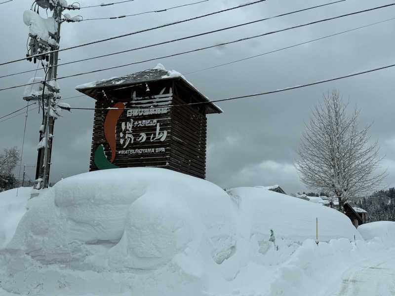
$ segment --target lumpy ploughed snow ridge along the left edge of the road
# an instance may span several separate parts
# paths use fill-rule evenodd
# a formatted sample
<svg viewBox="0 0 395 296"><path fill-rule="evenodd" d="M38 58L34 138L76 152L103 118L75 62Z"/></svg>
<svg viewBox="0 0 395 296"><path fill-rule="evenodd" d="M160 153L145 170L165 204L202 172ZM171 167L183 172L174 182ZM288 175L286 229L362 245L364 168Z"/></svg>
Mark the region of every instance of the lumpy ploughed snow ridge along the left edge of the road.
<svg viewBox="0 0 395 296"><path fill-rule="evenodd" d="M279 266L273 274L270 288L263 295L335 295L331 292L341 286L342 275L352 266L369 266L367 259L388 258L393 252L374 241L350 242L342 238L320 242L317 246L314 240L309 239ZM340 293L336 295L343 295Z"/></svg>

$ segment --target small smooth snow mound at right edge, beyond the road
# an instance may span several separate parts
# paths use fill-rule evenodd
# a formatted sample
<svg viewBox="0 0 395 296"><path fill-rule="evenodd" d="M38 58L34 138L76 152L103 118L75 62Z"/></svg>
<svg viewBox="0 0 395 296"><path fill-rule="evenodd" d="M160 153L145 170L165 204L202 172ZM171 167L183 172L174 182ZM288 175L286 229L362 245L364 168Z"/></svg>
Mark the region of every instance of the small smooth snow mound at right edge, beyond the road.
<svg viewBox="0 0 395 296"><path fill-rule="evenodd" d="M365 240L377 238L383 243L395 244L395 222L393 221L365 223L358 226L358 231Z"/></svg>

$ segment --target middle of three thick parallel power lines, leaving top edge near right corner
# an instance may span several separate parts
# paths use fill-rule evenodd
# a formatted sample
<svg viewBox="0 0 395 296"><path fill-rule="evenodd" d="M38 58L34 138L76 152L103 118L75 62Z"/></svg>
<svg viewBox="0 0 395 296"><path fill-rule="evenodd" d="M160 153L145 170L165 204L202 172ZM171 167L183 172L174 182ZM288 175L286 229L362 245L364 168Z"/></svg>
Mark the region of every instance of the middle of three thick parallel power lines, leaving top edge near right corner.
<svg viewBox="0 0 395 296"><path fill-rule="evenodd" d="M172 39L172 40L168 40L168 41L163 41L163 42L159 42L159 43L155 43L155 44L150 44L150 45L146 45L146 46L131 48L131 49L122 50L122 51L118 51L118 52L113 52L113 53L109 53L109 54L104 54L104 55L100 55L100 56L90 57L90 58L86 58L86 59L71 61L71 62L67 62L67 63L63 63L63 64L58 64L57 66L64 66L64 65L69 65L69 64L73 64L73 63L84 62L84 61L88 61L88 60L93 60L93 59L108 57L108 56L111 56L111 55L117 55L117 54L126 53L126 52L130 52L130 51L134 51L134 50L149 48L149 47L153 47L153 46L157 46L157 45L163 45L163 44L167 44L167 43L172 43L172 42L177 42L177 41L181 41L181 40L186 40L186 39L190 39L190 38L194 38L194 37L199 37L199 36L203 36L203 35L208 35L208 34L212 34L212 33L217 33L217 32L221 32L221 31L225 31L225 30L229 30L229 29L234 29L234 28L238 28L238 27L241 27L241 26L246 26L246 25L250 25L250 24L257 23L257 22L262 22L262 21L265 21L265 20L274 19L274 18L277 18L277 17L281 17L281 16L285 16L285 15L290 15L290 14L293 14L293 13L298 13L298 12L301 12L301 11L306 11L306 10L310 10L310 9L314 9L314 8L318 8L318 7L322 7L322 6L326 6L326 5L330 5L330 4L342 2L342 1L345 1L345 0L338 0L338 1L335 1L335 2L329 2L329 3L325 3L325 4L321 4L321 5L311 6L311 7L308 7L308 8L303 8L303 9L299 9L299 10L294 10L294 11L290 11L290 12L278 14L278 15L275 15L275 16L271 16L271 17L259 19L259 20L256 20L256 21L251 21L251 22L247 22L247 23L238 24L238 25L231 26L231 27L225 27L225 28L222 28L222 29L217 29L217 30L213 30L213 31L209 31L209 32L204 32L204 33L200 33L200 34L196 34L196 35L191 35L191 36L187 36L187 37L181 37L181 38ZM275 32L275 33L276 33L276 32ZM217 44L217 45L218 45L218 44ZM224 45L224 44L221 44L221 45ZM157 58L157 59L158 59L158 58ZM51 66L50 66L50 67L51 67ZM50 68L50 67L48 67L48 68ZM14 74L7 74L7 75L0 76L0 78L8 77L8 76L13 76L13 75L17 75L17 74L29 73L29 72L33 72L33 71L34 71L34 70L28 70L28 71L18 72L18 73L14 73Z"/></svg>

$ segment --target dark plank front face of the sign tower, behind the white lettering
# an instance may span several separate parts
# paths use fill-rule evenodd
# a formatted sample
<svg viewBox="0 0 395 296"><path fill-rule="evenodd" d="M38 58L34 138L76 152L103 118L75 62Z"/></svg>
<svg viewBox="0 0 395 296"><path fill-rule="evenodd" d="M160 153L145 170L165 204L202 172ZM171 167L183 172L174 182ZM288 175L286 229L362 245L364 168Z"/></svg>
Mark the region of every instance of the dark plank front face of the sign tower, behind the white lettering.
<svg viewBox="0 0 395 296"><path fill-rule="evenodd" d="M111 108L118 101L120 101L125 104L125 108L134 109L129 111L124 110L118 119L118 124L116 126L117 154L113 164L117 165L118 167L152 166L169 168L171 143L171 108L162 108L160 106L171 105L172 96L169 94L167 96L162 95L160 98L136 100L131 98L132 93L133 88L125 89L122 92L117 93L118 96L121 96L120 99L112 97L111 100L103 99L96 102L96 108ZM155 110L154 108L151 108L151 106L155 106L156 108L167 111L161 114L149 114L149 112L143 112ZM94 164L94 153L99 145L104 146L107 159L111 159L110 147L104 134L104 121L107 112L107 110L95 111L92 150L89 167L90 171L98 169ZM123 129L122 122L124 122ZM145 125L147 122L150 123L150 126ZM153 122L155 124L153 124ZM129 135L133 137L133 143L130 141L128 145L126 145L125 140L122 144L120 143L120 135L124 135L127 131L127 123L129 123L131 126L131 132L129 132ZM143 125L140 126L142 123ZM167 132L167 136L165 137L164 141L160 141L161 137L155 140L157 135L157 123L159 124L159 135L164 131ZM142 137L142 133L145 135L145 141L139 142L138 139ZM151 140L154 141L151 142ZM160 151L157 151L157 149Z"/></svg>

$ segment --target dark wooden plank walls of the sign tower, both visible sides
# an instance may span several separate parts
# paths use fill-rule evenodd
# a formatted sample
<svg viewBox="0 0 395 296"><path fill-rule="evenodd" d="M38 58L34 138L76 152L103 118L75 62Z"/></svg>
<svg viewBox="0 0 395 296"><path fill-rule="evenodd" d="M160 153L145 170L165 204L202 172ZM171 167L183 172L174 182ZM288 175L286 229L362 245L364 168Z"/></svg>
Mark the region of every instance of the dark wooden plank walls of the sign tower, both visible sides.
<svg viewBox="0 0 395 296"><path fill-rule="evenodd" d="M145 91L145 85L136 87L126 87L124 89L106 92L105 97L96 101L97 109L111 108L117 102L123 102L125 108L137 108L141 110L151 109L151 107L162 108L161 106L185 104L194 101L194 94L186 88L177 87L173 81L167 80L165 83L150 83L151 92L158 95L160 90L166 87L164 93L152 99L136 99L133 96L134 90L137 95ZM169 91L171 87L171 92ZM176 91L174 88L177 88ZM104 92L103 92L104 93ZM163 107L165 108L165 107ZM160 114L137 114L137 111L124 110L116 127L117 154L113 164L118 167L162 167L192 175L198 178L205 178L206 175L206 141L207 141L207 119L204 108L197 106L180 106L168 108L168 111ZM98 168L94 163L94 153L99 145L104 146L107 159L111 159L111 150L104 134L104 121L108 110L95 110L92 134L92 147L90 155L89 170ZM167 132L164 141L157 139L151 142L151 135L158 135L157 124L159 123L159 134ZM144 122L142 122L144 121ZM124 126L122 129L122 122ZM120 135L126 131L125 125L129 122L132 130L129 135L133 136L134 143L129 143L126 147L125 141L120 143ZM139 126L149 122L149 126ZM136 124L136 125L135 125ZM142 143L137 139L141 138L141 133L145 133L146 140ZM163 134L160 134L163 135ZM160 149L160 152L157 151ZM142 150L149 149L149 150ZM154 149L154 150L152 150ZM150 151L147 153L146 151Z"/></svg>

